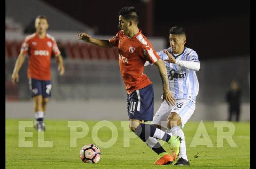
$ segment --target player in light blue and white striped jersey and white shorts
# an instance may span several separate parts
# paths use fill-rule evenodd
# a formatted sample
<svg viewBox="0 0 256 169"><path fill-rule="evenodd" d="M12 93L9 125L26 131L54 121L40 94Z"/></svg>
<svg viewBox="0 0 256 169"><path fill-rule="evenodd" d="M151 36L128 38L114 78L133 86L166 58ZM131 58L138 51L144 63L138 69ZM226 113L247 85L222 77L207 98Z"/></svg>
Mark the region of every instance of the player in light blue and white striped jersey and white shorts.
<svg viewBox="0 0 256 169"><path fill-rule="evenodd" d="M186 33L183 28L172 27L169 38L171 47L157 54L165 62L170 91L176 99L176 105L170 106L166 101L162 102L150 124L181 137L179 159L174 165L189 165L185 136L180 126L184 127L196 108L196 95L199 90L196 71L200 69L200 61L194 50L185 47ZM148 64L150 63L145 63ZM157 140L149 137L147 143L155 145Z"/></svg>

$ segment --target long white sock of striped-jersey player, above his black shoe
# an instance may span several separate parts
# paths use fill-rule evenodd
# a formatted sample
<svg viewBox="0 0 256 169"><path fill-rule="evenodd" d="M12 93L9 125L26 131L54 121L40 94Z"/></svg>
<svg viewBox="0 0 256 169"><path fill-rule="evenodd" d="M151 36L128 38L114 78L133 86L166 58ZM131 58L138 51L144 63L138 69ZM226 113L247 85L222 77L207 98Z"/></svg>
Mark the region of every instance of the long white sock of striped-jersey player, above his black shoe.
<svg viewBox="0 0 256 169"><path fill-rule="evenodd" d="M168 134L170 134L170 135L180 136L182 141L180 143L180 155L179 155L179 158L183 158L185 160L188 160L187 152L186 152L185 136L184 136L184 133L183 133L182 129L180 129L180 126L173 127L171 129L171 132L170 132L170 129L166 130L166 132Z"/></svg>

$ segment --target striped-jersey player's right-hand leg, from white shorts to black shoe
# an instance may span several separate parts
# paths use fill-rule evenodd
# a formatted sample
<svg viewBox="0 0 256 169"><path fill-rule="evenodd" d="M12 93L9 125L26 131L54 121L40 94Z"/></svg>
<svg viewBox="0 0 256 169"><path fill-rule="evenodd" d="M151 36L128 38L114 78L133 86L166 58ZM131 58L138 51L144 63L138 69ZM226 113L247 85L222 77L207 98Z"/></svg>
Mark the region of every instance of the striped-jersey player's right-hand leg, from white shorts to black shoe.
<svg viewBox="0 0 256 169"><path fill-rule="evenodd" d="M195 103L187 99L180 99L177 101L176 106L171 110L169 117L167 118L167 133L180 136L182 141L180 143L179 160L174 165L189 165L189 161L186 153L185 136L180 128L184 127L188 119L195 111Z"/></svg>

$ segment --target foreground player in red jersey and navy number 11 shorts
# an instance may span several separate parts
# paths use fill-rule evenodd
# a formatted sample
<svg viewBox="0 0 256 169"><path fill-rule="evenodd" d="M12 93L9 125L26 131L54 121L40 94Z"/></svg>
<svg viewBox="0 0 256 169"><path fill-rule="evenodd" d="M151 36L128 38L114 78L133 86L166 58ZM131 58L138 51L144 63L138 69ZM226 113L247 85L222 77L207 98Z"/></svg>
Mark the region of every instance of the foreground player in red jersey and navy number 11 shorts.
<svg viewBox="0 0 256 169"><path fill-rule="evenodd" d="M175 99L169 91L167 71L164 62L159 59L151 43L138 28L139 16L134 7L124 7L119 12L120 31L110 40L92 38L86 33L78 34L78 39L100 47L118 47L119 66L127 91L127 113L130 129L146 142L149 137L161 139L171 146L172 155L167 153L157 142L149 145L158 154L155 165L167 165L179 153L180 137L171 136L153 125L145 124L152 121L154 109L154 91L152 82L143 73L144 64L149 61L158 67L163 82L164 100L170 105ZM176 155L175 155L176 154Z"/></svg>

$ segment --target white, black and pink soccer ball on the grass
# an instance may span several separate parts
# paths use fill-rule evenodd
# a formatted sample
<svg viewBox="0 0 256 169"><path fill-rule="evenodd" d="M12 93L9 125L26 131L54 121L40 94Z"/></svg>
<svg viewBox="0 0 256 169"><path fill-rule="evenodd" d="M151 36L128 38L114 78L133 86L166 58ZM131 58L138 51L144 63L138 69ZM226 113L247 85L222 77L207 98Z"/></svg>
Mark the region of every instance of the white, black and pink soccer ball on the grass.
<svg viewBox="0 0 256 169"><path fill-rule="evenodd" d="M97 163L100 161L100 149L93 144L84 145L80 151L80 158L84 163Z"/></svg>

